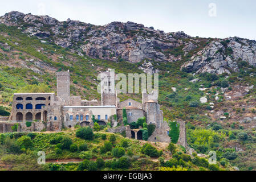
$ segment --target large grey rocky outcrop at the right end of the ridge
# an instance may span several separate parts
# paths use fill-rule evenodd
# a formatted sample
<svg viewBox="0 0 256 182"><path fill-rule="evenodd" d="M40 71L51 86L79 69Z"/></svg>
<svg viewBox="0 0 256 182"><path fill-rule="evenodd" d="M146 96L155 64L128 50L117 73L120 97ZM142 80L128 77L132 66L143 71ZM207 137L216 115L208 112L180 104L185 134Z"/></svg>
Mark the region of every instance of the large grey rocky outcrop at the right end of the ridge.
<svg viewBox="0 0 256 182"><path fill-rule="evenodd" d="M230 73L238 72L238 62L256 65L256 42L240 38L214 40L202 51L193 55L191 61L182 65L188 72Z"/></svg>

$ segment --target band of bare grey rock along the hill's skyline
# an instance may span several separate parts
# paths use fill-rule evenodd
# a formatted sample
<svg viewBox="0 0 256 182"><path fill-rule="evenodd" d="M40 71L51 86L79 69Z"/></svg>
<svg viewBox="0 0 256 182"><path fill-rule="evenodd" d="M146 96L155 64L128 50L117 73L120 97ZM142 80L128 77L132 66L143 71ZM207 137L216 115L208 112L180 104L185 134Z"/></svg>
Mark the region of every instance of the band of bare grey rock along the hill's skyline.
<svg viewBox="0 0 256 182"><path fill-rule="evenodd" d="M1 16L0 22L17 26L25 34L37 36L63 48L78 50L98 59L111 61L174 62L188 61L182 65L187 72L222 73L238 72L239 63L246 61L256 66L256 42L242 38L193 38L184 32L154 30L133 22L112 22L94 26L67 19L65 22L49 16L23 14L17 11ZM157 72L152 65L140 67L145 72Z"/></svg>

